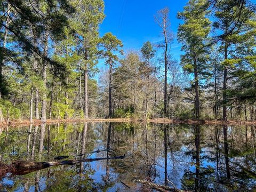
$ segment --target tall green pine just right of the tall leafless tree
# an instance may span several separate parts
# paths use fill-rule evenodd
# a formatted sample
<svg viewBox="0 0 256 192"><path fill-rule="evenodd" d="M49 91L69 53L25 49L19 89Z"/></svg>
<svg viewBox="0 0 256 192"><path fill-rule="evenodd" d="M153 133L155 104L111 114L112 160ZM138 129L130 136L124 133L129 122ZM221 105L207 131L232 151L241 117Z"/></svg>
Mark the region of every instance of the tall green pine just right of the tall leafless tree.
<svg viewBox="0 0 256 192"><path fill-rule="evenodd" d="M178 18L184 21L178 29L178 41L185 51L181 56L181 65L185 71L194 74L196 118L200 118L199 78L206 66L207 38L211 30L211 22L205 17L207 13L206 0L190 0L184 11L178 13Z"/></svg>

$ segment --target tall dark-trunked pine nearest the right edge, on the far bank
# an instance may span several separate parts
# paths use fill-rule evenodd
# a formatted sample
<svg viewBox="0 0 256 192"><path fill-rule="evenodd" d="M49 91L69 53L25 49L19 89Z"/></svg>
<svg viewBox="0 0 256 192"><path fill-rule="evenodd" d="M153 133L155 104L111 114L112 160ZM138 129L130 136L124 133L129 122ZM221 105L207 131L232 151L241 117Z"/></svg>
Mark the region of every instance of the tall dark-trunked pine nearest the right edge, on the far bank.
<svg viewBox="0 0 256 192"><path fill-rule="evenodd" d="M224 58L223 66L223 89L222 89L222 118L227 120L227 80L228 71L239 62L236 58L232 58L230 53L236 45L246 42L255 34L255 7L251 6L249 1L241 2L233 0L219 1L215 9L215 17L217 20L213 23L215 29L219 29L220 35L215 39L221 42L221 51Z"/></svg>

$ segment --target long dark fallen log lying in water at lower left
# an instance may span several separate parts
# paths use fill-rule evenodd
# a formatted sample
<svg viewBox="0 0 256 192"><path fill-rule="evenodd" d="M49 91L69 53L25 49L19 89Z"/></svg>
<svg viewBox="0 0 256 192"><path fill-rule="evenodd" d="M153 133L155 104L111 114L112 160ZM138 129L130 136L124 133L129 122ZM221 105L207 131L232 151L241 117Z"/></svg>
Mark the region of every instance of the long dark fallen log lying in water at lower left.
<svg viewBox="0 0 256 192"><path fill-rule="evenodd" d="M77 163L82 162L93 162L93 161L101 161L106 159L123 159L123 156L117 157L105 157L105 158L85 158L79 160L66 160L66 161L53 161L53 162L28 162L28 161L15 161L11 165L1 164L0 163L0 178L4 177L6 173L12 173L13 175L24 175L34 171L42 170L47 167L51 166L58 166L58 165L75 165ZM5 173L5 174L4 174Z"/></svg>

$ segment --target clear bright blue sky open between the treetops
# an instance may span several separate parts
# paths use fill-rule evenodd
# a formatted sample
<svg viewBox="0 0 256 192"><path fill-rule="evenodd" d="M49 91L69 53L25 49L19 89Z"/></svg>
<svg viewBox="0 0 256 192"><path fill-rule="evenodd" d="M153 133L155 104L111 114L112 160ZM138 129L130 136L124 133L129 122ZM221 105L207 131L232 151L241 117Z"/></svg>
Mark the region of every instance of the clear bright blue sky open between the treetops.
<svg viewBox="0 0 256 192"><path fill-rule="evenodd" d="M100 36L111 32L121 39L124 51L140 50L144 42L156 43L161 41L161 29L154 21L154 15L164 7L170 9L171 30L177 34L181 20L177 12L183 10L188 0L105 0L106 18L100 26ZM180 45L174 41L172 54L180 58ZM102 61L99 67L102 67Z"/></svg>

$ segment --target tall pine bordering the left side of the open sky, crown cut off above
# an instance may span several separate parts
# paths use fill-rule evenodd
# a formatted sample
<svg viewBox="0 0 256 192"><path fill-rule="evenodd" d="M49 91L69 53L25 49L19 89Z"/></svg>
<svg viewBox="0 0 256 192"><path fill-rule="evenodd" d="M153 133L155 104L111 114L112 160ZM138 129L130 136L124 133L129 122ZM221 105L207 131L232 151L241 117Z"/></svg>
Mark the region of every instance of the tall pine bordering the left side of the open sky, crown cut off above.
<svg viewBox="0 0 256 192"><path fill-rule="evenodd" d="M97 45L99 43L99 25L105 18L102 0L73 0L76 13L72 25L77 34L77 44L81 53L84 75L84 117L88 118L88 76L89 71L97 64Z"/></svg>

